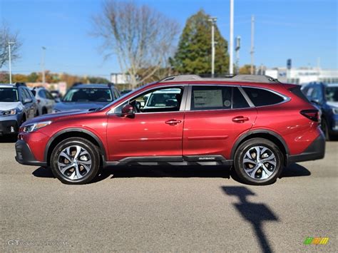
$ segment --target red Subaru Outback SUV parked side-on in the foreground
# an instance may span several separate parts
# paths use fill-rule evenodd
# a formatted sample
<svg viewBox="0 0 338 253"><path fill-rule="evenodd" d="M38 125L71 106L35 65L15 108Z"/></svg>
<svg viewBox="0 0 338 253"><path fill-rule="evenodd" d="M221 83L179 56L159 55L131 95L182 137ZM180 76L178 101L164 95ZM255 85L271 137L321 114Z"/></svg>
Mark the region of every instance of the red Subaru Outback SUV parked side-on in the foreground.
<svg viewBox="0 0 338 253"><path fill-rule="evenodd" d="M16 160L50 166L68 184L108 165L228 165L249 184L292 162L324 158L319 112L299 86L268 76L170 76L104 108L21 125Z"/></svg>

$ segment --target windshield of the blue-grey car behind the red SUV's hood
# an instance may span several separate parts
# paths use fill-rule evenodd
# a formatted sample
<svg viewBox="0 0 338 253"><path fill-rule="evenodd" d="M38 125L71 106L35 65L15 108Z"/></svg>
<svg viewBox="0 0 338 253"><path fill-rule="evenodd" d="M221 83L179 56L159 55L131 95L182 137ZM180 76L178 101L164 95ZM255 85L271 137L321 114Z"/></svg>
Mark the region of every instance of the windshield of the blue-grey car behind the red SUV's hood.
<svg viewBox="0 0 338 253"><path fill-rule="evenodd" d="M109 88L72 88L63 98L63 102L111 102L113 95Z"/></svg>

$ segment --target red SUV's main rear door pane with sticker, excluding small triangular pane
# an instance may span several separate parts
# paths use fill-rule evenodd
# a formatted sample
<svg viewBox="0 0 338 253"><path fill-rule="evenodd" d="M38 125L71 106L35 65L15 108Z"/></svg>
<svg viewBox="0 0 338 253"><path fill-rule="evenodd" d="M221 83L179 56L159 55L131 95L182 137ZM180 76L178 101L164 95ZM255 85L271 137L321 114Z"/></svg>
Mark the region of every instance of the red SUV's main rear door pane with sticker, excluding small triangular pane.
<svg viewBox="0 0 338 253"><path fill-rule="evenodd" d="M231 109L232 87L193 86L190 110Z"/></svg>

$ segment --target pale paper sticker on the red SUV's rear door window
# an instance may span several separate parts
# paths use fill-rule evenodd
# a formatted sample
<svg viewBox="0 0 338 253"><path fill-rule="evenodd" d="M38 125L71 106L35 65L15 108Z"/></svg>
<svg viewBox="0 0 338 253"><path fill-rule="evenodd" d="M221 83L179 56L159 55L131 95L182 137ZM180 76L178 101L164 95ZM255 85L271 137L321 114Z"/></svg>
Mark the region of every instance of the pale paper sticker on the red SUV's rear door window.
<svg viewBox="0 0 338 253"><path fill-rule="evenodd" d="M194 91L195 108L222 107L222 90Z"/></svg>

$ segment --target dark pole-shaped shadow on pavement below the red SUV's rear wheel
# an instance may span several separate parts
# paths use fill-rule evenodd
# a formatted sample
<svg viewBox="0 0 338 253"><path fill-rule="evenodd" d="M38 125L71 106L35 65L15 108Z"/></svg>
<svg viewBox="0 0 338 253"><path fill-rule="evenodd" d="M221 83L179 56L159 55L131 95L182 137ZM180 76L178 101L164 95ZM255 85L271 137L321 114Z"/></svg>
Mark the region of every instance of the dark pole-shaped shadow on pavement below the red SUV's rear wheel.
<svg viewBox="0 0 338 253"><path fill-rule="evenodd" d="M237 212L252 225L262 252L272 252L269 241L263 231L262 224L263 222L278 222L277 215L265 204L247 201L247 196L255 195L255 193L247 189L247 187L223 186L222 190L226 195L238 197L239 202L233 204Z"/></svg>

